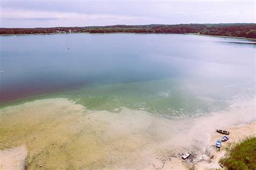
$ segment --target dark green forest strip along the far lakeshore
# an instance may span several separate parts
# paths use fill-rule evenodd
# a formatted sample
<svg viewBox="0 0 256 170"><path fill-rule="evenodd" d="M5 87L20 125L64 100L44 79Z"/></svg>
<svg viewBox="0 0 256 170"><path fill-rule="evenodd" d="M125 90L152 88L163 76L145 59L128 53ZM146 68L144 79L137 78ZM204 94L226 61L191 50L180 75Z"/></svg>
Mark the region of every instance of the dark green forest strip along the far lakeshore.
<svg viewBox="0 0 256 170"><path fill-rule="evenodd" d="M111 25L56 28L0 28L0 35L36 33L198 33L200 35L256 38L256 24Z"/></svg>

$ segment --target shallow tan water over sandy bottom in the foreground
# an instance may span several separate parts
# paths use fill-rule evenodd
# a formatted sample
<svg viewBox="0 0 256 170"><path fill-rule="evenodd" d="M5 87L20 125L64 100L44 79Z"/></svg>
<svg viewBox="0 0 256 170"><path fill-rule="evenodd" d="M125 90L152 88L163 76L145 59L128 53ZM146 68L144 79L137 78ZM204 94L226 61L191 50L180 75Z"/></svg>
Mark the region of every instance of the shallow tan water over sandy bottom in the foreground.
<svg viewBox="0 0 256 170"><path fill-rule="evenodd" d="M255 99L197 118L128 108L119 111L86 110L63 98L4 107L0 110L0 149L25 145L26 165L31 169L40 165L45 169L196 167L195 160L215 144L216 128L230 130L255 120ZM186 151L192 151L193 162L180 159L179 153Z"/></svg>

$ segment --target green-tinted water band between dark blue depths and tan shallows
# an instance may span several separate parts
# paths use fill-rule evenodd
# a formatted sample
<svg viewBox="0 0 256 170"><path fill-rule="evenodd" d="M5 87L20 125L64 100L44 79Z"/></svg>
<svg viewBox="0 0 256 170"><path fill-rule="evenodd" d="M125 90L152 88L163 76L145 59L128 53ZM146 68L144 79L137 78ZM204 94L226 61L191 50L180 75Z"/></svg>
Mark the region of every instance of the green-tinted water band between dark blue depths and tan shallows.
<svg viewBox="0 0 256 170"><path fill-rule="evenodd" d="M54 98L67 98L88 110L118 112L120 107L126 107L131 110L174 116L194 116L224 110L228 107L226 100L230 97L221 97L225 94L221 83L214 83L212 84L214 87L207 88L205 88L206 85L198 87L198 84L203 84L200 81L187 84L186 80L177 78L94 84L76 90L18 99L2 104L0 108ZM209 89L215 89L214 95L209 93Z"/></svg>

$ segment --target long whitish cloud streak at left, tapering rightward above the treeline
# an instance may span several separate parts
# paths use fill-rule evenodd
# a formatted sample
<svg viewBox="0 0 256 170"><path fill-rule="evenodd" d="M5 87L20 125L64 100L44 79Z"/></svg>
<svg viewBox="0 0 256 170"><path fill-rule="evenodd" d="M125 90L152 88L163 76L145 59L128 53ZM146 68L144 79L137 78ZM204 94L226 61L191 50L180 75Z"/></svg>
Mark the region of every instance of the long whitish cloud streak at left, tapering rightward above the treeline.
<svg viewBox="0 0 256 170"><path fill-rule="evenodd" d="M23 10L23 9L5 9L1 10L1 18L15 18L15 19L144 19L142 17L124 16L124 15L111 15L105 13L86 14L77 12L58 12L58 11L43 11L43 10Z"/></svg>

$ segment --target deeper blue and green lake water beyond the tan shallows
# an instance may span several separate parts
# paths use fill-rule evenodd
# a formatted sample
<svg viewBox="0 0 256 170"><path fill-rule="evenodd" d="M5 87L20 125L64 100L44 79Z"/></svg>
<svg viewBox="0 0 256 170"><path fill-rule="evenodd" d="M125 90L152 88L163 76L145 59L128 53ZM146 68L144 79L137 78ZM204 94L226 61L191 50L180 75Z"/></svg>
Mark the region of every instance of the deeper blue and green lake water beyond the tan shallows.
<svg viewBox="0 0 256 170"><path fill-rule="evenodd" d="M91 110L194 116L255 96L256 46L249 40L66 34L1 36L0 45L2 105L43 94Z"/></svg>

